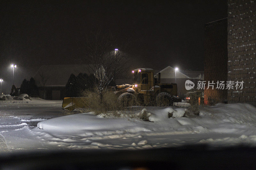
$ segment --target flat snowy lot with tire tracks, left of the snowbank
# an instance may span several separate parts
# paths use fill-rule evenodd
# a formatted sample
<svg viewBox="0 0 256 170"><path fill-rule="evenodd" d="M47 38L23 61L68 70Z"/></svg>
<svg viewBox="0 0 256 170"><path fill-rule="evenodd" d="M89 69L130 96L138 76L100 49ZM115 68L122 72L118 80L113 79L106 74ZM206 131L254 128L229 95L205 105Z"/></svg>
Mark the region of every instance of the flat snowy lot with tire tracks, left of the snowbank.
<svg viewBox="0 0 256 170"><path fill-rule="evenodd" d="M0 152L56 148L29 132L38 122L63 115L62 100L0 100Z"/></svg>

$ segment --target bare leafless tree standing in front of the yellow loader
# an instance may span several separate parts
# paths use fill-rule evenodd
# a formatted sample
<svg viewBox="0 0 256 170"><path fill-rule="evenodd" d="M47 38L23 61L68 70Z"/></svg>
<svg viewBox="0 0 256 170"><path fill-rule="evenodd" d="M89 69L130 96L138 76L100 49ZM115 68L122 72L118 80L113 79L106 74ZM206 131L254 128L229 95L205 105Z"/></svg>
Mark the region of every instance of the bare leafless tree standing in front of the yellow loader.
<svg viewBox="0 0 256 170"><path fill-rule="evenodd" d="M124 52L127 42L118 51L115 51L116 44L116 38L110 32L103 33L100 28L86 35L84 59L90 62L89 72L95 75L95 92L99 94L100 100L103 97L103 90L107 89L116 75L126 70L128 65L128 58Z"/></svg>

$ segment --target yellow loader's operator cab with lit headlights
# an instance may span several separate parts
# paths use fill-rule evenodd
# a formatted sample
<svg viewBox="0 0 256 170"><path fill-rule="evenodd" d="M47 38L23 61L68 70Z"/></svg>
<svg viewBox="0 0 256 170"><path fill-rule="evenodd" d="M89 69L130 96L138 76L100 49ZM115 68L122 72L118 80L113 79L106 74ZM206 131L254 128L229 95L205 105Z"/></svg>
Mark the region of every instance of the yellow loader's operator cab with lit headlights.
<svg viewBox="0 0 256 170"><path fill-rule="evenodd" d="M138 91L148 91L154 86L154 70L140 68L132 70L133 83L138 85Z"/></svg>

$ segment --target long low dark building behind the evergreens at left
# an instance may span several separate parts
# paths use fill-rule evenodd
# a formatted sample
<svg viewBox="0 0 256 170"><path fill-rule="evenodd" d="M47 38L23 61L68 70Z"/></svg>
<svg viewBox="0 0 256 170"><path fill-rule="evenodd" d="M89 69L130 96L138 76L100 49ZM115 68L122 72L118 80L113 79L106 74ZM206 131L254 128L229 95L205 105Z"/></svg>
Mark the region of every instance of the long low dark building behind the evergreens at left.
<svg viewBox="0 0 256 170"><path fill-rule="evenodd" d="M89 75L88 65L43 65L34 79L39 90L39 97L45 100L62 100L66 94L66 84L71 74Z"/></svg>

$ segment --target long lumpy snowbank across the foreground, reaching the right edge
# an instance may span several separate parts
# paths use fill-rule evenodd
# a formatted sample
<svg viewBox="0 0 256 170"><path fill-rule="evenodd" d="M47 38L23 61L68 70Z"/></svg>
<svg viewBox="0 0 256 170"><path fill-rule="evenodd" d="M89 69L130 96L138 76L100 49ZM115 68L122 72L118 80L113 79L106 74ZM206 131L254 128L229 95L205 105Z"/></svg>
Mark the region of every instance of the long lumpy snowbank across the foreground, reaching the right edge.
<svg viewBox="0 0 256 170"><path fill-rule="evenodd" d="M186 111L185 108L133 107L133 109L135 110L130 113L137 115L134 118L132 116L106 118L88 113L67 115L39 122L37 128L31 129L31 132L51 144L67 146L70 149L152 148L165 146L173 135L176 135L177 141L182 144L177 136L181 134L189 136L187 139L186 135L183 135L188 143L198 139L194 143L230 144L234 141L233 144L249 142L256 145L256 108L249 104L201 106L200 116L194 118L182 117ZM172 116L169 118L170 114ZM148 121L138 119L138 115L146 116ZM198 137L196 134L201 135ZM167 139L162 140L161 137L157 139L159 135ZM155 144L148 142L150 136L155 136ZM118 140L117 143L121 142L120 139L129 139L131 143L103 144L99 141L103 139L108 142ZM175 146L175 144L168 144L168 146Z"/></svg>

